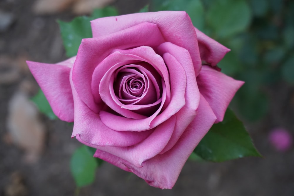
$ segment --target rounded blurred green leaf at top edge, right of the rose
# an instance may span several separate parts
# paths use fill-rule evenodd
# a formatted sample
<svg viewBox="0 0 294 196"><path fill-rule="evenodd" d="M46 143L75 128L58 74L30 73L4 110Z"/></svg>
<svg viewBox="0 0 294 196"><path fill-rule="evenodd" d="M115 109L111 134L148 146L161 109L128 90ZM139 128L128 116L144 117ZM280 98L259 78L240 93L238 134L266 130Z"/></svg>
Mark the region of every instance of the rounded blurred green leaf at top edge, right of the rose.
<svg viewBox="0 0 294 196"><path fill-rule="evenodd" d="M244 31L250 21L251 11L245 0L216 0L207 11L207 22L220 37Z"/></svg>

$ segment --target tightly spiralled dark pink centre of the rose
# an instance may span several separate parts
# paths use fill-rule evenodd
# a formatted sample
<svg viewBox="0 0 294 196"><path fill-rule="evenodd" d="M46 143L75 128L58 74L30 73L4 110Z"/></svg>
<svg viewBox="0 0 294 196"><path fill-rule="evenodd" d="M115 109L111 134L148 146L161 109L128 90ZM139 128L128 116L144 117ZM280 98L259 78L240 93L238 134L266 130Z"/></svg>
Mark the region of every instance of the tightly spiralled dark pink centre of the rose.
<svg viewBox="0 0 294 196"><path fill-rule="evenodd" d="M144 112L136 112L144 115L153 112L160 105L161 77L150 64L139 62L121 66L116 70L114 78L113 90L122 104L141 105Z"/></svg>

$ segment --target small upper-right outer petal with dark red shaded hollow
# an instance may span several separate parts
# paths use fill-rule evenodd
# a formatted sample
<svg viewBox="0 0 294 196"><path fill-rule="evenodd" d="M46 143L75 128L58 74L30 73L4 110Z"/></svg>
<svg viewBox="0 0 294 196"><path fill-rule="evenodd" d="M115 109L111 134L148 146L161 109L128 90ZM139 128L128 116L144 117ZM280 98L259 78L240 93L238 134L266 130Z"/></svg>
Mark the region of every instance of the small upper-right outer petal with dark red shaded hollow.
<svg viewBox="0 0 294 196"><path fill-rule="evenodd" d="M230 49L195 28L201 60L216 66Z"/></svg>

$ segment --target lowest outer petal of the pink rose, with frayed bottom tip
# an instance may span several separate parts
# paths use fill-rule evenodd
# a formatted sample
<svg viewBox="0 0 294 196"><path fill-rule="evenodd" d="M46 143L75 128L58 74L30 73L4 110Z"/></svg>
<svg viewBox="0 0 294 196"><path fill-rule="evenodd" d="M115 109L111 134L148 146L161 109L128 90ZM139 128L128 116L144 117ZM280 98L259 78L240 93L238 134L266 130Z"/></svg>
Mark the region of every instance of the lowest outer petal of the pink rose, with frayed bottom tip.
<svg viewBox="0 0 294 196"><path fill-rule="evenodd" d="M128 161L102 150L96 150L94 157L135 173L151 186L171 189L188 157L216 120L216 116L203 96L200 98L197 111L198 115L187 127L176 145L166 153L147 160L143 163L143 167L136 167Z"/></svg>

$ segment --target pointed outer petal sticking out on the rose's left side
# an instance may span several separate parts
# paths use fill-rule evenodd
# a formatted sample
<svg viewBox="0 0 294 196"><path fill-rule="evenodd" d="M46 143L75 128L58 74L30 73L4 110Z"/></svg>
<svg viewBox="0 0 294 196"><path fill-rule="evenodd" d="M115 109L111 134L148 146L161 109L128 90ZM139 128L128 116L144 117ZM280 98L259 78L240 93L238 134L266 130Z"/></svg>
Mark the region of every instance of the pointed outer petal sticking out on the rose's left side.
<svg viewBox="0 0 294 196"><path fill-rule="evenodd" d="M74 100L69 82L74 60L75 57L56 64L27 61L54 114L67 122L74 121Z"/></svg>

